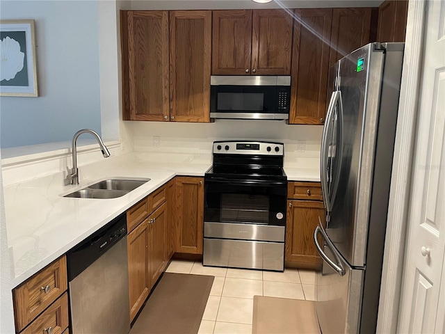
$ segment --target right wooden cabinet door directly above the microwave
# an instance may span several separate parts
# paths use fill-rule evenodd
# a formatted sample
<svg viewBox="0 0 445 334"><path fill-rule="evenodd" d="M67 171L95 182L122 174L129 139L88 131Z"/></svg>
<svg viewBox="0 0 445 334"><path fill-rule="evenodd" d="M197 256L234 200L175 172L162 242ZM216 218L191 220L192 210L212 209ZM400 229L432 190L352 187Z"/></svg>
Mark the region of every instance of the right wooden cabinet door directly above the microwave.
<svg viewBox="0 0 445 334"><path fill-rule="evenodd" d="M292 15L285 10L254 10L252 74L291 74Z"/></svg>

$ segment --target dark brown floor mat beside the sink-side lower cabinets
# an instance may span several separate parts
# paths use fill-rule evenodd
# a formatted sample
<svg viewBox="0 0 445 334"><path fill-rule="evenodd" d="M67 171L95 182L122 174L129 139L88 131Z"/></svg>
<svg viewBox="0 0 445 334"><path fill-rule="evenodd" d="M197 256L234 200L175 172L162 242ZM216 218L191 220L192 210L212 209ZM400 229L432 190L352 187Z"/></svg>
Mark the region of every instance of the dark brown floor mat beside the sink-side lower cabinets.
<svg viewBox="0 0 445 334"><path fill-rule="evenodd" d="M197 333L213 280L164 273L129 334Z"/></svg>

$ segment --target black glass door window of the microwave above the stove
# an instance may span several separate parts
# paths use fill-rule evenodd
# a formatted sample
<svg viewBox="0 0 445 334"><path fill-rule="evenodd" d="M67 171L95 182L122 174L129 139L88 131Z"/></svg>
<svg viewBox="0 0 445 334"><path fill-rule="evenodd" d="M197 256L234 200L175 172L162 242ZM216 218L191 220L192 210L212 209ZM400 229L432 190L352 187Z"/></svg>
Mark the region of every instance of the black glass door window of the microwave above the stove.
<svg viewBox="0 0 445 334"><path fill-rule="evenodd" d="M211 112L275 113L276 86L212 86Z"/></svg>

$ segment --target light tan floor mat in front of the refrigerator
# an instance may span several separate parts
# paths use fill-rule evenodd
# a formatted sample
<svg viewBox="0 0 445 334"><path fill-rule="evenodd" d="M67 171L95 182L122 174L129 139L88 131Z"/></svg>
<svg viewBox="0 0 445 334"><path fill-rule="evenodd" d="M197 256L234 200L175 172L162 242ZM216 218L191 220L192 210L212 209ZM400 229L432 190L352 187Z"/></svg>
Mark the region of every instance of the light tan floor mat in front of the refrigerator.
<svg viewBox="0 0 445 334"><path fill-rule="evenodd" d="M254 296L252 334L318 334L313 301Z"/></svg>

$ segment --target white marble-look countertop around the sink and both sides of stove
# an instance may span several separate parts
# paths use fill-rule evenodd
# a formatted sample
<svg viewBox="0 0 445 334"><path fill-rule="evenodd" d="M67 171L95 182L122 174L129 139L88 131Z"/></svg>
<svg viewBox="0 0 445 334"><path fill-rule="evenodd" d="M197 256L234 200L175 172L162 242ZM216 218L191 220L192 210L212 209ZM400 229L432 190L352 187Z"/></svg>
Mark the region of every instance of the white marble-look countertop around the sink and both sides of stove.
<svg viewBox="0 0 445 334"><path fill-rule="evenodd" d="M161 159L161 155L153 153L129 153L79 167L78 186L64 185L63 172L5 186L13 287L67 253L175 175L202 177L210 166L209 154L178 154L177 157L170 154L170 159ZM320 180L318 170L285 168L285 171L289 181ZM120 198L63 197L112 177L149 177L151 180Z"/></svg>

